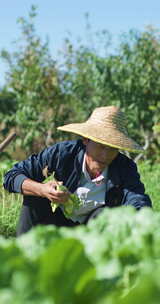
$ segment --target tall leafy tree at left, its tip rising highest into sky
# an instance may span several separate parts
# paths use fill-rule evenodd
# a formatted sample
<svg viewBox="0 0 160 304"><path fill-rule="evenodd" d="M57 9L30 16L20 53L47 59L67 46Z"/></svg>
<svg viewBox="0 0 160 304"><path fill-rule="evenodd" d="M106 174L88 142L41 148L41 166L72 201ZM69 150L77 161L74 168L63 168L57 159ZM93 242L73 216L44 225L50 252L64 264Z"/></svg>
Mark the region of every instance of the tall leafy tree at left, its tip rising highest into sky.
<svg viewBox="0 0 160 304"><path fill-rule="evenodd" d="M63 112L65 105L59 71L50 55L48 41L42 43L36 33L35 17L36 8L33 6L28 20L18 20L22 35L16 42L17 51L13 54L1 52L9 66L7 87L16 99L16 115L15 112L11 115L19 134L16 144L26 152L50 144L52 134L56 139L58 114L61 113L59 122L67 116Z"/></svg>

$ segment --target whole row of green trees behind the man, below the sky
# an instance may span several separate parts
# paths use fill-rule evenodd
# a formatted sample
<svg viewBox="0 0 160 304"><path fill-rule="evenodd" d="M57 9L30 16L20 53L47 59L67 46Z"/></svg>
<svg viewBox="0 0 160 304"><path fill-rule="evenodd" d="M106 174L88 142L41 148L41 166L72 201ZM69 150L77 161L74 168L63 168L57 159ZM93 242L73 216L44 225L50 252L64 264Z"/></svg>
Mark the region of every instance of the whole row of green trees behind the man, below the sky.
<svg viewBox="0 0 160 304"><path fill-rule="evenodd" d="M143 158L159 161L159 32L152 27L130 30L120 38L117 50L112 47L109 52L110 34L92 33L87 19L87 44L65 39L59 64L50 54L49 41L43 43L36 33L36 15L32 6L27 19L19 18L17 50L1 52L9 68L6 88L16 100L16 115L14 107L7 117L1 114L5 132L16 126L16 145L28 153L39 151L71 138L56 132L57 126L84 121L95 107L114 104L127 114L130 135L145 147Z"/></svg>

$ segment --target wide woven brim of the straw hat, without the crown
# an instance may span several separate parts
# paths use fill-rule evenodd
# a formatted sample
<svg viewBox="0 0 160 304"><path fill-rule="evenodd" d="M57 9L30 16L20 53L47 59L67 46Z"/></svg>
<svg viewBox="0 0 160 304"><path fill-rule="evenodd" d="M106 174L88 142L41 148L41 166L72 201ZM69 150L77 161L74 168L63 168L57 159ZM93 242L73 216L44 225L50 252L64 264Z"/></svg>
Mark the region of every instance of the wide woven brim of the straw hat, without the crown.
<svg viewBox="0 0 160 304"><path fill-rule="evenodd" d="M119 150L134 153L144 152L143 148L129 138L129 136L116 128L106 128L103 124L95 126L95 123L92 124L91 122L73 123L58 127L57 129L89 138L97 143Z"/></svg>

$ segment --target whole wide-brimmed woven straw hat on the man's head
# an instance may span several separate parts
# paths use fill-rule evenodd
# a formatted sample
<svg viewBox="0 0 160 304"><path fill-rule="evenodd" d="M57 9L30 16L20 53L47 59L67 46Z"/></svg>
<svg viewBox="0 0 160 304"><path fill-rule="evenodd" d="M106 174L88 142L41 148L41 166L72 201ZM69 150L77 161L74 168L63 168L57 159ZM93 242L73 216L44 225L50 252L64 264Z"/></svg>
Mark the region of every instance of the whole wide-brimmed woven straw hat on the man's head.
<svg viewBox="0 0 160 304"><path fill-rule="evenodd" d="M71 132L89 138L97 143L129 152L141 152L140 147L127 132L124 113L115 106L96 108L84 123L72 123L58 127L58 130Z"/></svg>

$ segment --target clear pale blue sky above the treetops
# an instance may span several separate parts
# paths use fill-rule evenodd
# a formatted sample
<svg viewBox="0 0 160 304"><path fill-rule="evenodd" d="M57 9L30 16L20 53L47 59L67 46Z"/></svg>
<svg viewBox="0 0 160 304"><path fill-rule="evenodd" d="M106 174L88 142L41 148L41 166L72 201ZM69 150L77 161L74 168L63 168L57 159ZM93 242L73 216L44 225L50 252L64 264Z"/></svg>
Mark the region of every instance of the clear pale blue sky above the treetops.
<svg viewBox="0 0 160 304"><path fill-rule="evenodd" d="M26 17L31 5L38 7L37 33L50 39L50 49L57 54L67 32L73 38L85 35L85 13L89 13L94 31L107 29L113 38L147 25L160 29L160 0L5 0L0 7L0 49L13 49L20 35L18 17ZM0 59L0 86L4 84L7 66Z"/></svg>

